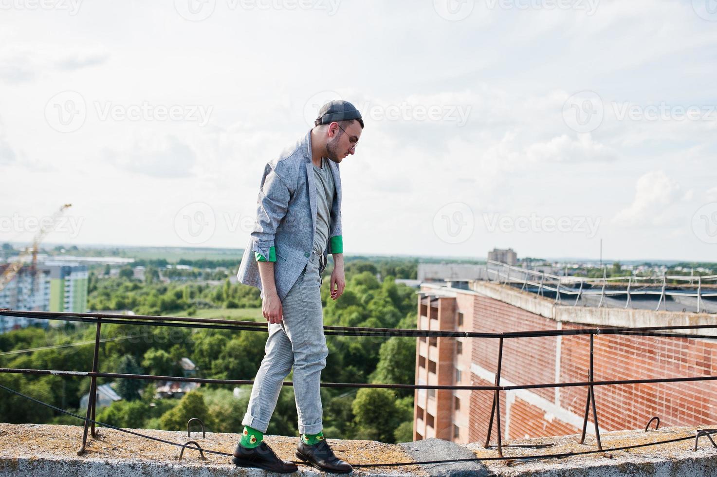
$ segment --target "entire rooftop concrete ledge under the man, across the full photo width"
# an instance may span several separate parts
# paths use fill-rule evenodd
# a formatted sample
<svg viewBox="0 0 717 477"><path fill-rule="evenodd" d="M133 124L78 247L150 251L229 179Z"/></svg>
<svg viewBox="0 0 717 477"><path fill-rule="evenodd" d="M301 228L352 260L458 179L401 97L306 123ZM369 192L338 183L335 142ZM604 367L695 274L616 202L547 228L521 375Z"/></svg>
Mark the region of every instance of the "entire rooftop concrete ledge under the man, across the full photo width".
<svg viewBox="0 0 717 477"><path fill-rule="evenodd" d="M138 430L153 437L185 443L186 433L163 430ZM82 428L65 425L0 424L0 476L29 477L222 477L266 476L258 469L235 468L223 455L205 454L199 459L194 449L185 450L178 460L179 448L173 445L146 440L110 429L100 430L99 440L88 440L87 453L78 456L77 447L82 439ZM505 477L634 477L657 476L714 476L717 475L717 448L707 438L701 438L697 452L692 451L695 428L661 428L614 431L602 433L604 448L654 443L660 440L689 437L678 443L660 444L645 448L616 451L612 458L602 454L574 455L562 459L543 459L508 465L505 461L476 461L424 466L394 466L356 468L356 476L505 476ZM192 433L202 448L231 452L239 436L236 434ZM275 452L284 459L295 460L293 451L297 438L267 436ZM359 463L394 463L444 460L450 458L494 458L498 452L484 449L480 443L458 445L443 440L429 439L401 445L377 443L370 440L329 439L336 454L346 461ZM520 459L526 455L578 453L594 450L594 438L587 445L577 443L576 435L552 438L506 441L504 444L545 444L549 448L504 448L506 457ZM302 465L296 475L326 475Z"/></svg>

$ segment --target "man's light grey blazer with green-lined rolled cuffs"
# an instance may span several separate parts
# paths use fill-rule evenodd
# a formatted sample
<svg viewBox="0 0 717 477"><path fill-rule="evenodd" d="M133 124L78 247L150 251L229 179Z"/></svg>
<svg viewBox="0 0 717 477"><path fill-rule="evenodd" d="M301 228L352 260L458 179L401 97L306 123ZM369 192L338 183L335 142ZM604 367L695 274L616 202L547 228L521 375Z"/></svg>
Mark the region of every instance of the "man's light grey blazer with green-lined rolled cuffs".
<svg viewBox="0 0 717 477"><path fill-rule="evenodd" d="M341 176L328 161L336 192L323 268L328 253L343 253L341 236ZM274 279L283 300L308 263L316 232L316 185L311 166L311 131L264 168L257 199L257 218L244 250L237 278L262 288L257 261L274 262Z"/></svg>

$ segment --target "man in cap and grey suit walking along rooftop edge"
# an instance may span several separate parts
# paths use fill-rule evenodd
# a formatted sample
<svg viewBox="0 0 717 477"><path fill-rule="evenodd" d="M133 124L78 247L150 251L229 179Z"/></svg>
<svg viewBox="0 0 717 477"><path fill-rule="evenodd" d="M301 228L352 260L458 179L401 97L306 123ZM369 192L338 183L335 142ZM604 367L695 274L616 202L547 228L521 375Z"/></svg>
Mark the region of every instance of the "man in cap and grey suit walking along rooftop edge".
<svg viewBox="0 0 717 477"><path fill-rule="evenodd" d="M356 151L364 121L351 103L338 100L323 105L314 124L265 167L254 231L237 274L240 282L260 288L262 313L269 322L265 356L232 458L241 467L280 473L298 469L263 441L282 382L293 367L297 457L322 471L351 471L321 433L320 377L328 348L320 285L331 253L331 298L336 300L346 286L338 164Z"/></svg>

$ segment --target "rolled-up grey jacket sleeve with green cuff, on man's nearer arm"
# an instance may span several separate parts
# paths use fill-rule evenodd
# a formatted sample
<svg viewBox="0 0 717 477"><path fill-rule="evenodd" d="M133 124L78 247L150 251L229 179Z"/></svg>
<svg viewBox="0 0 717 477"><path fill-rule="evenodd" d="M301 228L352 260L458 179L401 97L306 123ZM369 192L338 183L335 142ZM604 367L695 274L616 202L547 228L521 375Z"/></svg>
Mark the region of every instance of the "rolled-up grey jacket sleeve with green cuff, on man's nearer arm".
<svg viewBox="0 0 717 477"><path fill-rule="evenodd" d="M257 199L257 219L252 231L252 250L258 262L275 262L274 238L281 219L286 215L290 193L276 169L267 165L266 174Z"/></svg>

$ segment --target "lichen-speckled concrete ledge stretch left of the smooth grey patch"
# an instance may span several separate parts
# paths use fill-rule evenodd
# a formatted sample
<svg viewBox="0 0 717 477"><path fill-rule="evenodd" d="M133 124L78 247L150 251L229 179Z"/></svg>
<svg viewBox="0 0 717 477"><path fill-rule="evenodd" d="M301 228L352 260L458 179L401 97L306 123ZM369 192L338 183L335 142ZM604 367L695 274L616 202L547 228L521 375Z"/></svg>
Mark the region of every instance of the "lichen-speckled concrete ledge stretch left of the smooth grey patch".
<svg viewBox="0 0 717 477"><path fill-rule="evenodd" d="M232 453L238 434L192 433L166 430L136 429L138 433L184 444L196 440L203 449ZM298 438L266 436L267 444L288 461L294 455ZM159 443L118 430L100 428L100 439L87 439L87 453L77 455L82 442L82 428L68 425L0 424L0 476L23 477L219 477L267 476L259 469L236 468L229 457L205 453L201 461L196 448L186 448L179 461L180 448ZM328 443L336 455L349 463L412 462L413 459L399 445L371 440L334 440ZM294 475L325 475L302 464ZM358 468L359 476L426 476L418 466Z"/></svg>

